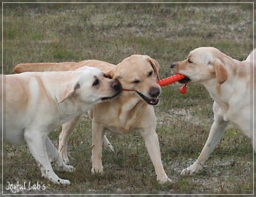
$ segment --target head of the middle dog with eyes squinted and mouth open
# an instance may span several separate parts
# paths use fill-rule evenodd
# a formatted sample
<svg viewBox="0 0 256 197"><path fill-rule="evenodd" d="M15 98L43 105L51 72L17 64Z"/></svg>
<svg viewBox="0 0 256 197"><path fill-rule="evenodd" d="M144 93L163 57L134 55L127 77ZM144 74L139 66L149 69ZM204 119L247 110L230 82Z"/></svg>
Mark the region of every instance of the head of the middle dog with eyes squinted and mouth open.
<svg viewBox="0 0 256 197"><path fill-rule="evenodd" d="M121 82L123 88L135 90L147 104L156 105L161 93L158 70L159 63L148 55L131 55L105 75Z"/></svg>

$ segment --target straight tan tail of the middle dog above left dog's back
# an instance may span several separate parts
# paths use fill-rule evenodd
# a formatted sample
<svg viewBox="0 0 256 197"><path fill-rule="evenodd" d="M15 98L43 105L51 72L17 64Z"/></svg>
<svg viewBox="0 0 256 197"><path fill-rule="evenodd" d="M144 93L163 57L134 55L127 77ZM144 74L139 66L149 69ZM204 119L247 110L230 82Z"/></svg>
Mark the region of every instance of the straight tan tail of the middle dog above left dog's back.
<svg viewBox="0 0 256 197"><path fill-rule="evenodd" d="M20 63L13 69L15 73L21 72L54 72L68 71L75 66L76 62L61 63Z"/></svg>

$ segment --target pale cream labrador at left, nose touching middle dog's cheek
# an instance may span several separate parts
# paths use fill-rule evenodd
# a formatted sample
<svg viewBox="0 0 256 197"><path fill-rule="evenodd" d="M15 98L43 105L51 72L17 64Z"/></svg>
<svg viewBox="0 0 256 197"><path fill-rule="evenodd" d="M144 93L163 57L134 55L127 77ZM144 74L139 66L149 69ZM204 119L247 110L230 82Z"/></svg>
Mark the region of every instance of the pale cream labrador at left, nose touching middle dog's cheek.
<svg viewBox="0 0 256 197"><path fill-rule="evenodd" d="M60 179L50 165L50 161L56 162L62 170L73 171L50 142L49 132L87 112L94 104L118 96L121 84L88 66L78 71L26 72L4 78L7 141L26 142L41 168L42 177L69 185L69 180Z"/></svg>

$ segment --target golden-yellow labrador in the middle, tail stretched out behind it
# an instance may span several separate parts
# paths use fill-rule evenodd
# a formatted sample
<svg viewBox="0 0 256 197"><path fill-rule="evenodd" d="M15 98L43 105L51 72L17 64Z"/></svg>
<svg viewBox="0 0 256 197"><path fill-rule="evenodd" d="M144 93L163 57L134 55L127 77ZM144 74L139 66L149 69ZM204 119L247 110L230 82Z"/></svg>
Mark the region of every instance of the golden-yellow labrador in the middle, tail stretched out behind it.
<svg viewBox="0 0 256 197"><path fill-rule="evenodd" d="M121 96L102 104L97 104L90 111L92 117L92 173L102 173L102 141L105 139L105 131L116 134L129 134L138 130L145 140L146 148L159 182L167 182L170 179L165 174L162 166L159 139L156 133L156 117L154 105L158 104L157 96L161 88L157 84L159 63L148 55L131 55L117 66L111 63L89 60L64 63L22 63L15 67L15 72L42 72L75 70L83 65L94 66L105 73L107 77L121 82L124 91ZM78 122L79 116L62 126L59 141L59 150L68 163L67 136ZM110 145L111 147L111 145Z"/></svg>

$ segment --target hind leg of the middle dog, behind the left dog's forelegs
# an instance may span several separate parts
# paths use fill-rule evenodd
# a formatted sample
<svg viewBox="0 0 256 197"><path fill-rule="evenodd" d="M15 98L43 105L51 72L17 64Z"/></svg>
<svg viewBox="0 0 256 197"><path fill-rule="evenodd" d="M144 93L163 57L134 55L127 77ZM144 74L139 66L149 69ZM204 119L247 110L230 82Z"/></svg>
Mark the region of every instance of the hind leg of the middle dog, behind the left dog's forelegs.
<svg viewBox="0 0 256 197"><path fill-rule="evenodd" d="M79 119L80 116L77 116L72 120L69 120L67 123L64 123L62 125L61 134L59 135L59 153L66 164L69 164L69 158L67 155L67 139L71 132L74 130Z"/></svg>

